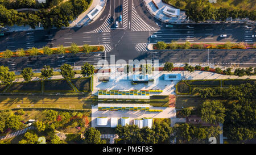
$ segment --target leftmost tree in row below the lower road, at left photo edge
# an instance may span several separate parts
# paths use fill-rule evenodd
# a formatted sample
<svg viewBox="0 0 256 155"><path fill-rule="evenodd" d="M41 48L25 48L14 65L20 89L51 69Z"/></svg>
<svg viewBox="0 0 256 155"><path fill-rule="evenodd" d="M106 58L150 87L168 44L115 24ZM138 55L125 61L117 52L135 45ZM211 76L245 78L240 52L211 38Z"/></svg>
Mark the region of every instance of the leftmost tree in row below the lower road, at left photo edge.
<svg viewBox="0 0 256 155"><path fill-rule="evenodd" d="M2 83L10 84L15 80L15 73L9 72L9 68L0 66L0 80Z"/></svg>

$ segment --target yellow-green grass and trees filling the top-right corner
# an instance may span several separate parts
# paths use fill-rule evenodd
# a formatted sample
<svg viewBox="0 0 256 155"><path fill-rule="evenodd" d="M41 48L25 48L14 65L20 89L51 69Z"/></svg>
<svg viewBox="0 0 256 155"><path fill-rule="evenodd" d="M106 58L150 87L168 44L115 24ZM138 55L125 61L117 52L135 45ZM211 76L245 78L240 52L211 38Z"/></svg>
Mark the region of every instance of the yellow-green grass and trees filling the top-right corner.
<svg viewBox="0 0 256 155"><path fill-rule="evenodd" d="M217 3L210 3L208 0L163 0L163 2L185 10L189 19L195 22L211 19L225 21L230 17L256 20L256 5L253 0L217 0Z"/></svg>

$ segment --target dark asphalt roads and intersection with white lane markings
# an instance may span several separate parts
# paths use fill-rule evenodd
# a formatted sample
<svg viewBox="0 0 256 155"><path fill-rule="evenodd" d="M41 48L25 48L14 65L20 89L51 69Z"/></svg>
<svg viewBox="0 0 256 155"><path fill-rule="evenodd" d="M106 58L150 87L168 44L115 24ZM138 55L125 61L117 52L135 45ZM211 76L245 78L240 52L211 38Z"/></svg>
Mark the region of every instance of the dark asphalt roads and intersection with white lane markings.
<svg viewBox="0 0 256 155"><path fill-rule="evenodd" d="M122 11L119 6L122 5ZM122 21L119 22L119 16ZM113 16L114 21L110 18ZM118 22L118 28L115 22ZM160 63L195 62L230 66L240 63L240 66L256 66L255 50L174 50L174 51L148 51L148 43L164 41L170 43L189 41L201 42L246 42L254 43L255 26L246 24L174 24L174 28L166 28L166 23L155 19L144 6L142 0L108 0L104 11L93 23L84 27L62 29L8 32L0 37L0 51L31 47L42 48L45 45L68 47L71 43L77 45L104 45L105 53L79 53L77 55L52 55L37 57L17 57L1 59L0 65L9 66L11 70L21 70L26 67L40 69L43 65L58 68L61 64L82 65L84 62L96 65L102 59L110 60L110 55L117 60L150 60L157 59ZM150 39L150 35L156 35ZM227 34L221 38L221 34ZM74 64L75 63L75 64ZM242 63L242 64L241 64Z"/></svg>

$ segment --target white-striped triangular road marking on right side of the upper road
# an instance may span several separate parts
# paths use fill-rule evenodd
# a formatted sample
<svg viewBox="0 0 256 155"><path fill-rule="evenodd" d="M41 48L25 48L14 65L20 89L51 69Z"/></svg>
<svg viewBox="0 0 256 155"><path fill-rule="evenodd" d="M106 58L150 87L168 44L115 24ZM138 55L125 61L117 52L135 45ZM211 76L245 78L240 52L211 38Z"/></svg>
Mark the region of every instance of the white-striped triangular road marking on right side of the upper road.
<svg viewBox="0 0 256 155"><path fill-rule="evenodd" d="M135 10L134 5L132 6L131 12L131 31L156 31L158 28L149 26L141 17L138 15Z"/></svg>

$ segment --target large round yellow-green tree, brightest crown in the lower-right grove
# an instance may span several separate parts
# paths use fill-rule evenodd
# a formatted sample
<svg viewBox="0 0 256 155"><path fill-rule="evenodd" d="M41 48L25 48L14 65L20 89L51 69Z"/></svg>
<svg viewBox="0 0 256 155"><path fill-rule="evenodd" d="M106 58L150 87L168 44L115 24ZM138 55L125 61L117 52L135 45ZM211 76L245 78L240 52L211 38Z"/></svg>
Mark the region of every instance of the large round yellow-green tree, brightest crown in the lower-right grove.
<svg viewBox="0 0 256 155"><path fill-rule="evenodd" d="M201 107L201 119L209 123L224 123L225 107L217 100L205 101Z"/></svg>

